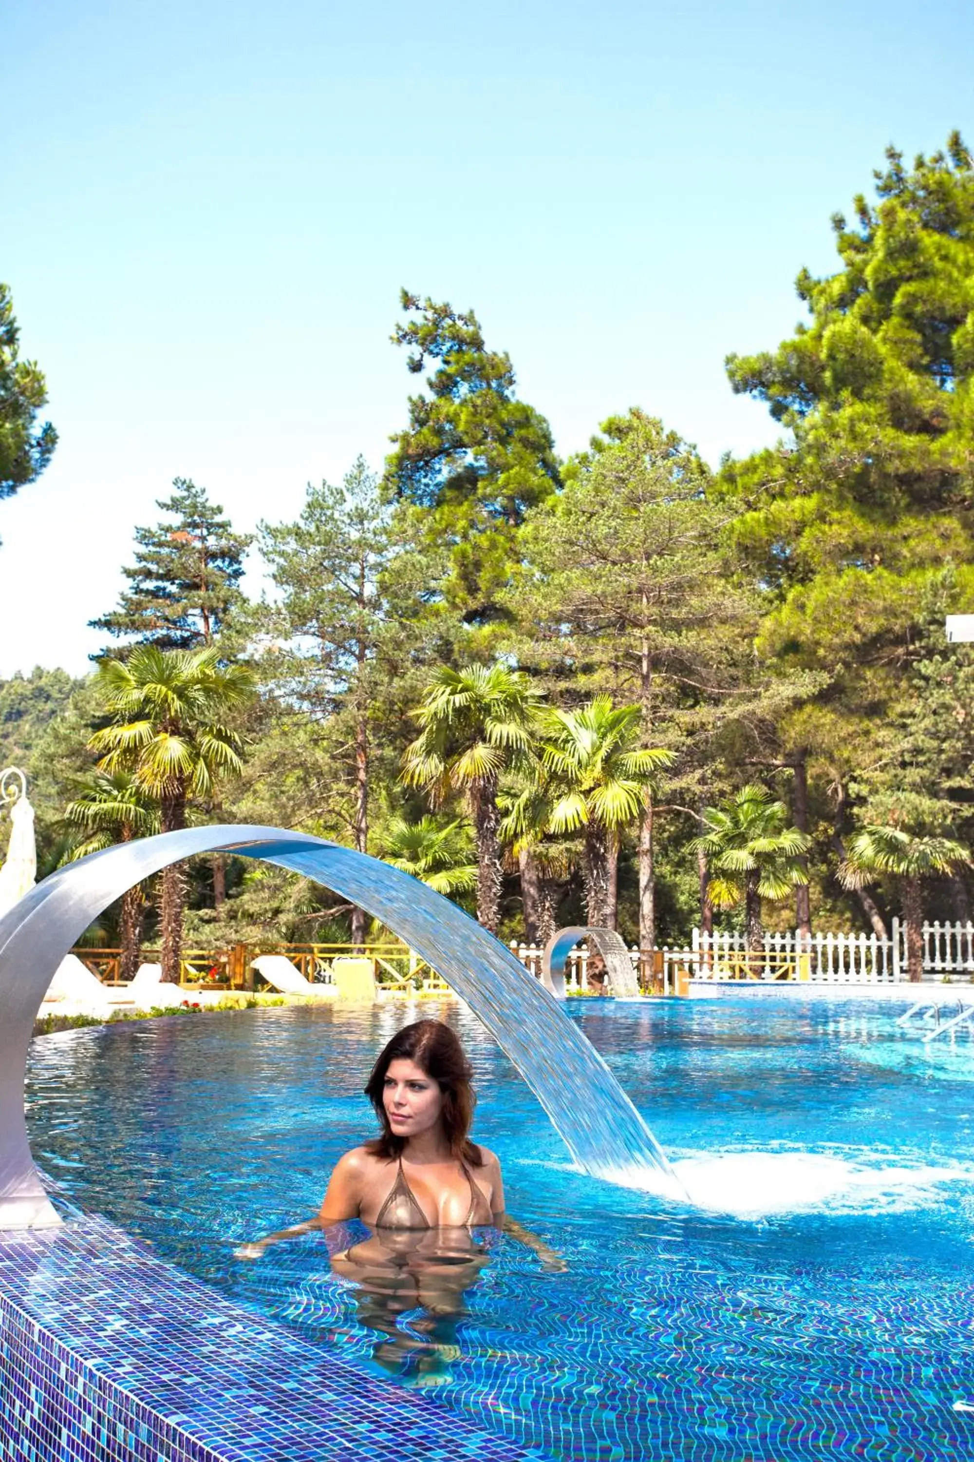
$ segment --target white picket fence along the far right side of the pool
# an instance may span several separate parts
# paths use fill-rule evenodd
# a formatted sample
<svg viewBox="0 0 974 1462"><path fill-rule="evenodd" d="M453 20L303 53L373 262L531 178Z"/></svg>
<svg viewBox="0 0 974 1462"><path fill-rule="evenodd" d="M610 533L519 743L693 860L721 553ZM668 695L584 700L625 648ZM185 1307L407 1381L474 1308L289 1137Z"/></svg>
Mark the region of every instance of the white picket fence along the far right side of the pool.
<svg viewBox="0 0 974 1462"><path fill-rule="evenodd" d="M542 950L511 942L511 953L540 978ZM905 930L891 921L888 939L878 934L827 934L802 939L797 930L767 934L761 952L748 955L740 933L704 934L695 928L683 949L629 949L640 982L653 980L676 990L678 977L692 980L813 980L835 984L892 984L907 978ZM584 990L588 950L575 946L565 962L565 985ZM935 921L923 925L923 977L933 981L974 980L974 924Z"/></svg>

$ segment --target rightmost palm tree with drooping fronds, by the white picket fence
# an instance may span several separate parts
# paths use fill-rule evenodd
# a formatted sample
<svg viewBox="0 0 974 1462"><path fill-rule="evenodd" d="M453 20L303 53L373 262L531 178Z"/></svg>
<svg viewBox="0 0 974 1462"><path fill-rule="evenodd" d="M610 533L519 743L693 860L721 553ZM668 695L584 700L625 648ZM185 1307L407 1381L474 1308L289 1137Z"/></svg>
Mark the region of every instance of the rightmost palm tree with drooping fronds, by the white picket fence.
<svg viewBox="0 0 974 1462"><path fill-rule="evenodd" d="M889 823L866 823L848 839L838 868L843 887L862 887L883 873L902 885L907 972L913 981L923 980L923 885L939 874L955 873L968 861L967 849L952 838L911 833Z"/></svg>

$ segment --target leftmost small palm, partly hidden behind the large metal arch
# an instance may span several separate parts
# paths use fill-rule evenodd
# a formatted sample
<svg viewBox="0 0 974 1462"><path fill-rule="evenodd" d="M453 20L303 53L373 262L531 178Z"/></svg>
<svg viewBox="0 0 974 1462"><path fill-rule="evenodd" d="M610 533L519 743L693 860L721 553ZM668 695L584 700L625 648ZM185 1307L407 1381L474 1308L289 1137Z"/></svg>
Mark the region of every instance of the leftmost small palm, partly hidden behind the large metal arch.
<svg viewBox="0 0 974 1462"><path fill-rule="evenodd" d="M64 808L74 836L63 863L101 852L118 842L159 832L159 804L130 772L91 772L79 778L79 792ZM140 883L121 896L118 943L121 978L134 980L142 950L146 898Z"/></svg>

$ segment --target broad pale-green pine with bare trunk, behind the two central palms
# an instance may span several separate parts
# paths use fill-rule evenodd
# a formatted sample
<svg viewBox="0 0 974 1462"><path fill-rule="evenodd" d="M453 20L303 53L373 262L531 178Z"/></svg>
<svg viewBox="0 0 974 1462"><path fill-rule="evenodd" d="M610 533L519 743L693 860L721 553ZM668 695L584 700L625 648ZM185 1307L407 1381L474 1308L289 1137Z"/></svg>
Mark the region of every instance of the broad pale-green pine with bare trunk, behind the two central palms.
<svg viewBox="0 0 974 1462"><path fill-rule="evenodd" d="M552 693L568 683L572 694L637 702L641 746L679 754L666 784L679 804L697 806L717 789L721 753L753 747L768 718L752 684L758 605L723 541L736 504L714 501L694 447L637 408L603 423L564 475L564 491L521 529L524 566L508 594L521 626L517 654L548 668ZM656 943L656 792L647 781L643 949Z"/></svg>

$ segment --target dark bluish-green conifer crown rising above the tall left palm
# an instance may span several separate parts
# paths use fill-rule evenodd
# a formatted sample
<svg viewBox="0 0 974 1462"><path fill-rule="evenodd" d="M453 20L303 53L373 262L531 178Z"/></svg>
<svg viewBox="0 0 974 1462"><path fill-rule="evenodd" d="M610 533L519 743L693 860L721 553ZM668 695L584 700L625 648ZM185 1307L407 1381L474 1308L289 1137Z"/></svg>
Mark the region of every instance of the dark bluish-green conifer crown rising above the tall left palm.
<svg viewBox="0 0 974 1462"><path fill-rule="evenodd" d="M92 629L159 649L212 645L242 605L239 579L253 542L235 534L204 488L177 477L172 497L156 503L169 522L136 528L136 563L123 569L131 588Z"/></svg>

